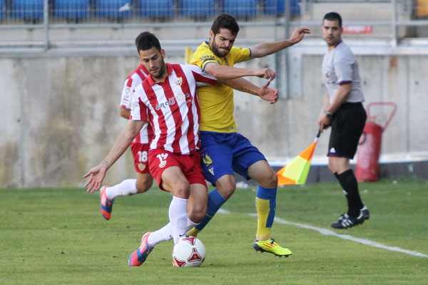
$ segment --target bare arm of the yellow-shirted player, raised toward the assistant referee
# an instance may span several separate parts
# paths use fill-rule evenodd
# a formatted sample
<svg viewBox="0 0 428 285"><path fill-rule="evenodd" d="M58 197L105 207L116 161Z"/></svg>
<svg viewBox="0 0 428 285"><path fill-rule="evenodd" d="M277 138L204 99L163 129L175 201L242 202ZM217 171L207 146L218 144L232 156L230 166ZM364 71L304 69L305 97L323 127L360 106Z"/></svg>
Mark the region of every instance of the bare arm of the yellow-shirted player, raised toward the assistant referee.
<svg viewBox="0 0 428 285"><path fill-rule="evenodd" d="M258 43L250 48L251 58L261 58L263 56L276 53L277 51L281 51L284 48L302 41L306 33L310 33L309 28L297 28L297 30L293 31L291 37L287 40L274 41L271 43Z"/></svg>

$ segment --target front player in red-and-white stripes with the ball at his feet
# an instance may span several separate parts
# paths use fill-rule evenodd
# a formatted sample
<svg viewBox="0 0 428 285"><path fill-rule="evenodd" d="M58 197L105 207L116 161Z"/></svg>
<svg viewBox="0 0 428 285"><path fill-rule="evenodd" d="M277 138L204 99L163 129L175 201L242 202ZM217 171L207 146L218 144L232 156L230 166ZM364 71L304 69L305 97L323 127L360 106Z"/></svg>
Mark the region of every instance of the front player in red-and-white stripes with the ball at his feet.
<svg viewBox="0 0 428 285"><path fill-rule="evenodd" d="M195 65L168 64L158 38L141 33L136 38L141 63L150 75L136 87L131 103L131 117L106 158L91 168L85 187L93 192L101 187L106 172L118 160L136 134L149 121L153 128L148 161L150 172L162 190L171 192L170 222L156 232L147 232L141 246L131 254L130 266L140 266L159 242L185 236L205 216L208 192L200 167L197 86L215 85L213 76ZM257 86L238 78L230 83L240 90L256 92ZM244 82L243 82L244 81ZM277 100L277 90L260 88L265 100Z"/></svg>

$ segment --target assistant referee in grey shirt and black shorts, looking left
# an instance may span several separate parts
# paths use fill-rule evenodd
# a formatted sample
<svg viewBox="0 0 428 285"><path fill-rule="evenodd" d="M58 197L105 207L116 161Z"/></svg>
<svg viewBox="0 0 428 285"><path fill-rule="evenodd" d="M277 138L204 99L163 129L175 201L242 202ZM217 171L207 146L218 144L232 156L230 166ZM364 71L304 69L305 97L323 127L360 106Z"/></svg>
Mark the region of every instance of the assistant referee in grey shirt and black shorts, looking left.
<svg viewBox="0 0 428 285"><path fill-rule="evenodd" d="M325 14L322 36L328 47L322 61L326 91L317 123L321 132L330 126L332 128L327 153L328 168L339 180L348 204L347 212L337 222L333 222L331 227L347 229L370 218L369 209L362 203L357 179L350 166L367 114L362 106L365 99L358 63L354 53L342 41L342 17L339 14Z"/></svg>

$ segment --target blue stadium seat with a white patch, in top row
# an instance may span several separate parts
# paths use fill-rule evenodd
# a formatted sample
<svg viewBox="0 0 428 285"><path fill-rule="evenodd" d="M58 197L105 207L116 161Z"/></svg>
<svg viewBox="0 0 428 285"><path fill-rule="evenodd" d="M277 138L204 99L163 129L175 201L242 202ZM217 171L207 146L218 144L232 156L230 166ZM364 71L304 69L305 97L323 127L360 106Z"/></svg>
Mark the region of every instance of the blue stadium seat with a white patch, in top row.
<svg viewBox="0 0 428 285"><path fill-rule="evenodd" d="M95 15L101 18L131 16L131 0L96 0Z"/></svg>

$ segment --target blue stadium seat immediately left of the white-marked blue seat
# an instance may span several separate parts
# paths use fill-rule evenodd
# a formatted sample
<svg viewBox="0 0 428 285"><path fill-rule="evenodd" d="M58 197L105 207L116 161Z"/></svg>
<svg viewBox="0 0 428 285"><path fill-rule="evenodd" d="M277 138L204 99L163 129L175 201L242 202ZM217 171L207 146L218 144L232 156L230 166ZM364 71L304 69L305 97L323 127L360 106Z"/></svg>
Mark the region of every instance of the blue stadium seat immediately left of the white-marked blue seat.
<svg viewBox="0 0 428 285"><path fill-rule="evenodd" d="M54 17L63 19L88 18L89 0L54 0Z"/></svg>

